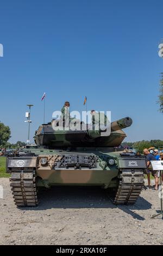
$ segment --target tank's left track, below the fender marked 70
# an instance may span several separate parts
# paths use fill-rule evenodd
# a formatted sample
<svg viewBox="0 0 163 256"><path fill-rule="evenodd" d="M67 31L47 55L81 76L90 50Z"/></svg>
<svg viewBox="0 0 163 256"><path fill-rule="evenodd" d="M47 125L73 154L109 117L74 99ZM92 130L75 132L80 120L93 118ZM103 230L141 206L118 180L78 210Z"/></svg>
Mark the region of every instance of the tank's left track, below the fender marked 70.
<svg viewBox="0 0 163 256"><path fill-rule="evenodd" d="M34 169L12 170L10 181L14 202L17 206L36 206L38 204Z"/></svg>

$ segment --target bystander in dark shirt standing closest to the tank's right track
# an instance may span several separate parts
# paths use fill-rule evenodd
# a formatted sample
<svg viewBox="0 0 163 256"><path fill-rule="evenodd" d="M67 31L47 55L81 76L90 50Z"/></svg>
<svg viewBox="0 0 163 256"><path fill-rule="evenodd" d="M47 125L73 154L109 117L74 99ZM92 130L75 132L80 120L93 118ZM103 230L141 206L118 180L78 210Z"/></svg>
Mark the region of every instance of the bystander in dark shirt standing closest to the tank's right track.
<svg viewBox="0 0 163 256"><path fill-rule="evenodd" d="M157 170L152 170L151 167L151 161L156 161L155 156L152 155L148 149L143 150L144 155L146 156L146 164L147 164L147 178L148 178L148 186L147 189L150 188L151 186L151 173L154 176L155 179L155 187L154 190L158 190L158 184L159 184L159 179L158 179L158 171Z"/></svg>

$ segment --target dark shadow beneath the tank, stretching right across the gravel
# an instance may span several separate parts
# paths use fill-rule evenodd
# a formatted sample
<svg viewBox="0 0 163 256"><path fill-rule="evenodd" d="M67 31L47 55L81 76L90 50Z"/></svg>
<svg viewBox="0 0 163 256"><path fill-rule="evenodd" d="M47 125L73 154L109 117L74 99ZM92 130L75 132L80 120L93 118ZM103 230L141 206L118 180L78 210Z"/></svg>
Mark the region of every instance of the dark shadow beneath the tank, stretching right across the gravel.
<svg viewBox="0 0 163 256"><path fill-rule="evenodd" d="M142 197L137 199L135 205L114 205L101 187L52 187L49 190L39 191L39 206L21 208L22 210L41 211L46 209L120 209L137 220L145 220L133 210L151 209L152 204Z"/></svg>

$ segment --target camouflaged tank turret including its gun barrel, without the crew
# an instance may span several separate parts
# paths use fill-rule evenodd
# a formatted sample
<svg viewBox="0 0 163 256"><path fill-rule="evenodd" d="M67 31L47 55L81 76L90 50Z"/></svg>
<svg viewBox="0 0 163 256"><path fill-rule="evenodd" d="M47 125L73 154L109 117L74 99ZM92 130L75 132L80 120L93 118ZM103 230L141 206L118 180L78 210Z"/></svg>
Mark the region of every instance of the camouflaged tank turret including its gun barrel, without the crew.
<svg viewBox="0 0 163 256"><path fill-rule="evenodd" d="M100 128L95 130L92 125L85 125L83 123L76 130L54 130L53 122L54 120L46 125L41 125L36 131L35 142L37 145L43 145L49 148L63 146L117 147L126 137L126 133L121 129L129 127L133 123L129 117L113 121L111 123L111 133L109 133L109 136L106 136L106 131L101 131Z"/></svg>

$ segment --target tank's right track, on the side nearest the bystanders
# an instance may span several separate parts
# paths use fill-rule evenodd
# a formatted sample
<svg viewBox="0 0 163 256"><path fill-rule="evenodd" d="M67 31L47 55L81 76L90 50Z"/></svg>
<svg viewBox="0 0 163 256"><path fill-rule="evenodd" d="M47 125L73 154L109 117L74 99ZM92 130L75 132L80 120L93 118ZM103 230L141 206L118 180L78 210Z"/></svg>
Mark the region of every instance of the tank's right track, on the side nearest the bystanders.
<svg viewBox="0 0 163 256"><path fill-rule="evenodd" d="M143 169L121 169L120 171L120 182L113 203L132 205L136 202L144 185Z"/></svg>

